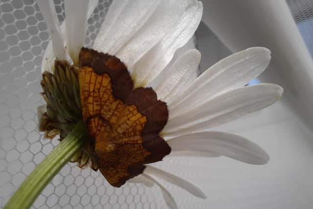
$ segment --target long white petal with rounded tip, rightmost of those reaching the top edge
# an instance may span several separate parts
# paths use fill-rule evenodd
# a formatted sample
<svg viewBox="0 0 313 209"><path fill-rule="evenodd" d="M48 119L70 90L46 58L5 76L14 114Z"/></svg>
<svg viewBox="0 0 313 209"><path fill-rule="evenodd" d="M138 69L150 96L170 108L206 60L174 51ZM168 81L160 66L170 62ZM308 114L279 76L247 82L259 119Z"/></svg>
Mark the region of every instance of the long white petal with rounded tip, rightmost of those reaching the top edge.
<svg viewBox="0 0 313 209"><path fill-rule="evenodd" d="M175 51L184 46L195 33L202 17L202 3L190 0L179 23L133 67L132 77L137 86L145 86L171 61Z"/></svg>

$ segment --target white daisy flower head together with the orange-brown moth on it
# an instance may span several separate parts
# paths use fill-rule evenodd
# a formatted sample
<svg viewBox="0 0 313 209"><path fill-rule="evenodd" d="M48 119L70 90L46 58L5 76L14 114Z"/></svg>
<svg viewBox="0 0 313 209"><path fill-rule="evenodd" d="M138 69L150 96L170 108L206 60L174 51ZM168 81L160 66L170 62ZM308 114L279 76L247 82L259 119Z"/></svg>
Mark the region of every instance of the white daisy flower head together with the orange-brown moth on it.
<svg viewBox="0 0 313 209"><path fill-rule="evenodd" d="M65 141L83 119L87 141L72 153L72 162L100 170L112 186L156 184L172 209L177 205L158 179L206 196L149 163L165 156L268 162L268 154L248 139L207 129L281 97L283 89L275 84L245 86L267 68L270 51L248 48L197 78L198 50L173 58L201 21L201 1L113 0L92 49L84 43L97 0L65 0L61 26L53 1L37 2L51 36L42 64L47 106L39 108L40 129Z"/></svg>

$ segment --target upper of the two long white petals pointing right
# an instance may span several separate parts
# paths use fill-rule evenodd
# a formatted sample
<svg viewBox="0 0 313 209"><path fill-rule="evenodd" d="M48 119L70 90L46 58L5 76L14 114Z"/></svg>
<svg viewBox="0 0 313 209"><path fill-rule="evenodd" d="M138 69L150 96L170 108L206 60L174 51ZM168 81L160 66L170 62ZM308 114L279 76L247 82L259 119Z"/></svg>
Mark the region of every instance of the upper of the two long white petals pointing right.
<svg viewBox="0 0 313 209"><path fill-rule="evenodd" d="M270 51L264 47L248 48L224 58L201 74L190 88L168 104L173 107L172 116L201 105L221 93L246 85L268 67L269 61Z"/></svg>

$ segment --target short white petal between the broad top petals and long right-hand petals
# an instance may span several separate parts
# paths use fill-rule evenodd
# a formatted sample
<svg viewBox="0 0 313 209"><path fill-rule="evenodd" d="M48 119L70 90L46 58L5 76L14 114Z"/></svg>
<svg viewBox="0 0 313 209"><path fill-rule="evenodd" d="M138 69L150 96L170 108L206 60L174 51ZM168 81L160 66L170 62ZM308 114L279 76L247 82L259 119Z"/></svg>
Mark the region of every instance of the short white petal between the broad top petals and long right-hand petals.
<svg viewBox="0 0 313 209"><path fill-rule="evenodd" d="M201 53L196 49L186 51L169 68L168 72L161 73L161 82L156 88L156 94L162 101L168 102L171 96L176 95L190 80L198 69Z"/></svg>

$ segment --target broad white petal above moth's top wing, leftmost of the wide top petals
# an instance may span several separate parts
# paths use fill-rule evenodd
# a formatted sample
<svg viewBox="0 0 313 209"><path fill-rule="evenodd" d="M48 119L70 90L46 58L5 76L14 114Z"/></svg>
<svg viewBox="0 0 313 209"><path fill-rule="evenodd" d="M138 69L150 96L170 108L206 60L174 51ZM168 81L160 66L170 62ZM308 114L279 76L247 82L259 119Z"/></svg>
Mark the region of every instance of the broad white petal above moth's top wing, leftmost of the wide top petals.
<svg viewBox="0 0 313 209"><path fill-rule="evenodd" d="M94 42L94 49L115 54L147 22L160 2L161 0L113 1L113 7L111 9L110 6L107 14L108 20L107 18L105 19L103 23L105 26L101 26L100 32ZM121 5L117 6L116 4L118 3ZM113 12L110 10L116 10L118 14L112 14ZM117 17L112 18L110 15ZM127 63L125 64L127 66Z"/></svg>

